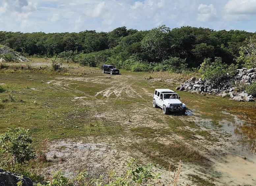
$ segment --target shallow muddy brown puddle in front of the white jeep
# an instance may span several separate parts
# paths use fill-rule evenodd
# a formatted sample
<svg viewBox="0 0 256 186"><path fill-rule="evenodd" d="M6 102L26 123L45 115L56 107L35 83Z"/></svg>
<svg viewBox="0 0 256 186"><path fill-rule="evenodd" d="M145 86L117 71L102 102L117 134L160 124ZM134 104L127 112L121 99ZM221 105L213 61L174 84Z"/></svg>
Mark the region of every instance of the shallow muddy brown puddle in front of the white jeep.
<svg viewBox="0 0 256 186"><path fill-rule="evenodd" d="M188 115L203 128L213 131L218 142L205 145L212 149L213 169L220 176L212 177L215 185L256 185L256 124L255 117L222 112L224 117L218 123ZM226 116L226 117L225 117Z"/></svg>

